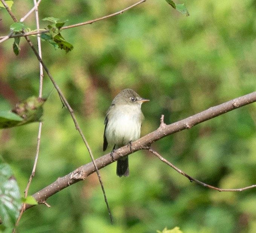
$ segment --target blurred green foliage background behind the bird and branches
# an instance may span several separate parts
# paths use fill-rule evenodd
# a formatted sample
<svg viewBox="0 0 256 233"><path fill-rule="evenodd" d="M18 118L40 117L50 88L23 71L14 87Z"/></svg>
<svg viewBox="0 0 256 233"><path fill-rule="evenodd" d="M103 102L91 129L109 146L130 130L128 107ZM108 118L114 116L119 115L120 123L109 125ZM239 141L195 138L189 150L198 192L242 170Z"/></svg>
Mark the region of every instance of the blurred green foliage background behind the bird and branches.
<svg viewBox="0 0 256 233"><path fill-rule="evenodd" d="M92 20L136 1L73 0L40 3L40 19L65 25ZM63 30L74 45L65 54L42 43L43 60L60 86L95 158L102 151L104 117L113 97L132 88L150 99L142 106L141 135L214 105L255 91L256 2L198 0L185 3L185 17L164 0L147 0L129 11L86 26ZM16 0L17 18L32 1ZM12 23L0 11L1 35ZM40 21L40 28L47 27ZM25 24L35 29L32 14ZM30 37L34 44L36 38ZM0 106L38 94L38 61L25 39L0 45ZM43 93L52 84L44 75ZM256 105L251 104L178 132L152 145L190 176L220 188L256 183ZM10 164L23 194L34 163L38 123L0 131L0 156ZM110 148L109 148L110 149ZM90 161L68 111L54 91L44 104L40 154L29 194ZM98 178L90 175L27 210L18 232L153 233L178 226L184 233L256 232L256 189L217 192L190 183L146 151L130 155L130 176L115 175L116 164L100 170L113 214L111 225Z"/></svg>

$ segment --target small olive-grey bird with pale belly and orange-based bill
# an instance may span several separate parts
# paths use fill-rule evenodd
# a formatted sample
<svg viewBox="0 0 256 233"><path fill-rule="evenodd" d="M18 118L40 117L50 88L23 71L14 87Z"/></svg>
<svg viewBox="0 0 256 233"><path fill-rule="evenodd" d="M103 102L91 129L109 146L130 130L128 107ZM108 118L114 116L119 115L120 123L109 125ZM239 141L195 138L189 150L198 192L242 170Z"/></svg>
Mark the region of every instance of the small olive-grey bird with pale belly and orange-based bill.
<svg viewBox="0 0 256 233"><path fill-rule="evenodd" d="M141 98L132 89L124 89L113 99L105 118L103 151L114 145L113 151L139 139L144 119L141 104L149 99ZM129 176L128 156L117 160L117 175Z"/></svg>

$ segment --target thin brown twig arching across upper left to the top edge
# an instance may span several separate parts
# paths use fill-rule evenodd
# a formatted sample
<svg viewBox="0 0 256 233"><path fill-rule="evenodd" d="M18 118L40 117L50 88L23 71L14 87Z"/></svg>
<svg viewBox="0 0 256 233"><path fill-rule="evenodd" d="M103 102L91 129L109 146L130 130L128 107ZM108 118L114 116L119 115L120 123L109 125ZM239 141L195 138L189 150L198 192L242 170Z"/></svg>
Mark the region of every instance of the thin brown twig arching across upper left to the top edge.
<svg viewBox="0 0 256 233"><path fill-rule="evenodd" d="M1 0L1 1L2 1L2 0ZM106 18L110 18L110 17L113 17L113 16L115 16L115 15L123 14L125 11L128 11L129 9L131 9L131 8L133 8L133 7L135 7L135 6L139 5L139 4L141 4L141 3L143 3L143 2L146 2L146 0L141 0L141 1L139 1L139 2L137 2L137 3L135 3L135 4L133 4L133 5L131 5L131 6L129 6L129 7L127 7L127 8L125 8L125 9L121 10L121 11L115 12L115 13L110 14L110 15L106 15L106 16L103 16L103 17L100 17L100 18L96 18L96 19L94 19L94 20L89 20L89 21L86 21L86 22L83 22L83 23L77 23L77 24L72 24L72 25L70 25L70 26L61 27L61 30L69 29L69 28L72 28L72 27L83 26L83 25L86 25L86 24L92 24L92 23L94 23L94 22L97 22L97 21L100 21L100 20L104 20L104 19L106 19ZM39 33L47 33L47 32L49 32L49 30L40 30ZM36 31L36 32L34 32L34 31L33 31L33 32L26 32L26 33L22 33L22 34L12 35L10 38L14 38L14 37L25 37L25 36L36 35L36 34L38 34L37 31ZM5 37L6 37L6 36L2 36L2 37L0 37L0 39L5 38Z"/></svg>

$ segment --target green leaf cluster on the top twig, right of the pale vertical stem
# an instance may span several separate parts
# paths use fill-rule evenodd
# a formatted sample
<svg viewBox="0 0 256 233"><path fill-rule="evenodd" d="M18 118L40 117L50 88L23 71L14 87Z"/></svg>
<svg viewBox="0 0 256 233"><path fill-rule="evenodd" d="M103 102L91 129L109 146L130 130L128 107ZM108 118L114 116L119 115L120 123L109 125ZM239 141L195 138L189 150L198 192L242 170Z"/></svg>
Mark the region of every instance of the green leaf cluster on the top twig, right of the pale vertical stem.
<svg viewBox="0 0 256 233"><path fill-rule="evenodd" d="M59 19L54 17L47 17L43 19L44 21L50 21L53 24L49 24L47 27L50 30L49 34L41 34L41 40L47 41L55 49L64 49L67 52L71 51L74 47L71 43L67 42L60 34L61 27L65 24L64 22L57 22Z"/></svg>

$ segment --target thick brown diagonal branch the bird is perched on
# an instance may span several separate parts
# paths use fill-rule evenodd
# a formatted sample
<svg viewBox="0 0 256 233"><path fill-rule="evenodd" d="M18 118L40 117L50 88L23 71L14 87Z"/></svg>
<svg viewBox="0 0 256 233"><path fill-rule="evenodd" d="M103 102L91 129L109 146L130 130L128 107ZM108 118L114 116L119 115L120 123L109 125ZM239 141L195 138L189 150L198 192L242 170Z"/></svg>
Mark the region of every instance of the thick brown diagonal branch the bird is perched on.
<svg viewBox="0 0 256 233"><path fill-rule="evenodd" d="M245 106L253 102L256 102L256 91L250 94L238 97L236 99L233 99L231 101L225 102L223 104L217 105L215 107L208 108L207 110L202 111L201 113L187 117L183 120L172 123L170 125L166 125L164 123L164 116L162 115L159 128L153 132L150 132L146 136L136 140L135 142L132 142L131 149L129 146L123 146L115 150L115 152L113 153L113 157L111 157L109 153L109 154L103 155L100 158L97 158L94 162L98 169L104 168L105 166L107 166L110 163L113 163L120 157L124 157L126 155L132 154L133 152L141 149L150 149L150 145L152 143L162 139L163 137L174 134L175 132L179 132L184 129L190 129L199 123L202 123L206 120L212 119L216 116L227 113L231 110ZM90 162L88 164L85 164L75 169L75 171L65 175L64 177L58 178L54 183L38 191L33 196L39 204L46 203L46 200L50 196L54 195L55 193L59 192L60 190L74 183L77 183L78 181L85 180L90 174L94 172L95 172L95 167L93 163ZM182 171L180 173L182 174ZM188 177L190 180L195 180L192 177L189 177L188 175L185 175L185 176ZM198 182L197 180L195 181ZM200 181L198 183L200 183ZM203 185L202 182L201 184ZM242 188L236 191L241 191L241 190L245 190L252 187L255 187L255 186ZM219 190L218 188L216 189ZM222 189L219 191L234 191L234 190ZM26 209L30 207L32 206L27 205Z"/></svg>

